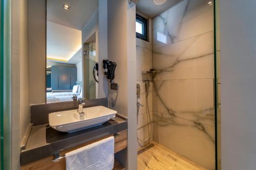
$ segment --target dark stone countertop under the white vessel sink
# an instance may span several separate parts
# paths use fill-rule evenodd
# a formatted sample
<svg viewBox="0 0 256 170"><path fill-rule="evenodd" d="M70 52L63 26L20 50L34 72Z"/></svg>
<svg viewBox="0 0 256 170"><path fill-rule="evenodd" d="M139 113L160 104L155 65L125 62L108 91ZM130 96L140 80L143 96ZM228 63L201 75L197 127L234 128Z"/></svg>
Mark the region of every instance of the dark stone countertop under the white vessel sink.
<svg viewBox="0 0 256 170"><path fill-rule="evenodd" d="M26 149L20 153L20 165L26 165L125 129L127 129L127 120L118 115L102 125L73 133L56 131L48 124L34 126Z"/></svg>

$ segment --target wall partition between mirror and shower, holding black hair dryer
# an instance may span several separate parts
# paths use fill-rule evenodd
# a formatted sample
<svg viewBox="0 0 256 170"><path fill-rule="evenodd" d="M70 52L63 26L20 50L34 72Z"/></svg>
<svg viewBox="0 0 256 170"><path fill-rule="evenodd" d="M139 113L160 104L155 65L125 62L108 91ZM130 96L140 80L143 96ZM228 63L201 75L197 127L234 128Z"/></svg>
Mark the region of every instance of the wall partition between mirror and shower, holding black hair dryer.
<svg viewBox="0 0 256 170"><path fill-rule="evenodd" d="M127 168L137 169L135 5L108 0L108 59L116 62L118 90L109 89L109 107L128 117Z"/></svg>

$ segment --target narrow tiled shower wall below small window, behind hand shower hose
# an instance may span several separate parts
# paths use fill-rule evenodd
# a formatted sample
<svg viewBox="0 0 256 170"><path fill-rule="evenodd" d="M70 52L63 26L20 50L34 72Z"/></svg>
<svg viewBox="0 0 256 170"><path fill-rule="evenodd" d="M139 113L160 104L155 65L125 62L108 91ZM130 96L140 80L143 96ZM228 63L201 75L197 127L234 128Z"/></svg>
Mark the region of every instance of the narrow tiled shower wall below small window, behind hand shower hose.
<svg viewBox="0 0 256 170"><path fill-rule="evenodd" d="M153 83L150 83L150 91L148 94L148 107L150 111L150 116L151 116L151 121L150 117L147 117L148 115L146 114L146 96L145 96L145 83L142 82L142 76L141 76L141 71L148 71L152 68L152 32L151 32L151 23L152 20L149 19L149 31L150 31L150 36L149 42L141 40L141 39L136 39L136 57L137 57L137 83L140 85L140 99L138 99L138 102L142 105L143 107L139 107L139 112L138 112L138 117L137 117L137 135L140 140L143 140L148 137L148 129L147 125L148 122L151 122L149 124L150 131L152 131L150 134L150 139L149 141L146 140L145 142L141 142L138 140L137 148L141 148L143 145L147 144L148 142L152 142L153 140L153 100L152 100L152 89L153 89ZM148 118L148 121L147 121Z"/></svg>

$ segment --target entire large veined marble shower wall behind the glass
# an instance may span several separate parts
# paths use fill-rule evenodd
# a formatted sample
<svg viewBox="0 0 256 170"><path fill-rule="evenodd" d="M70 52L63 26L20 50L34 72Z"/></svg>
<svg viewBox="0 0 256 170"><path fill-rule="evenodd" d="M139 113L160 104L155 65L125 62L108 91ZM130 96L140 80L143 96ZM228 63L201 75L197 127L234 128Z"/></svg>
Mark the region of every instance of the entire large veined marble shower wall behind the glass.
<svg viewBox="0 0 256 170"><path fill-rule="evenodd" d="M208 2L183 0L153 19L153 139L211 170L214 8Z"/></svg>

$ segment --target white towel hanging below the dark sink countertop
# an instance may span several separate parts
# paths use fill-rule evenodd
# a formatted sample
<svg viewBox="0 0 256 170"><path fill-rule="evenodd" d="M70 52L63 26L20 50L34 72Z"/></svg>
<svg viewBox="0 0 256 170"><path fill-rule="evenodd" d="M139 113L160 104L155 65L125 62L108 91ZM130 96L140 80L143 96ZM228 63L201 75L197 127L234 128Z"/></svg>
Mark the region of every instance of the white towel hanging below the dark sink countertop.
<svg viewBox="0 0 256 170"><path fill-rule="evenodd" d="M108 137L65 154L68 170L112 170L114 137Z"/></svg>

